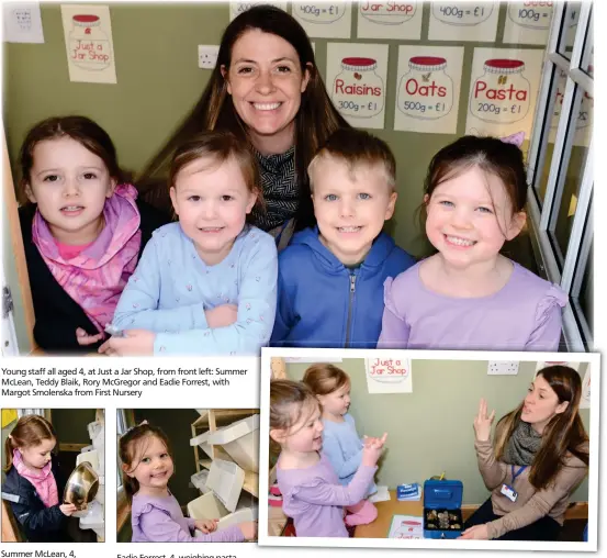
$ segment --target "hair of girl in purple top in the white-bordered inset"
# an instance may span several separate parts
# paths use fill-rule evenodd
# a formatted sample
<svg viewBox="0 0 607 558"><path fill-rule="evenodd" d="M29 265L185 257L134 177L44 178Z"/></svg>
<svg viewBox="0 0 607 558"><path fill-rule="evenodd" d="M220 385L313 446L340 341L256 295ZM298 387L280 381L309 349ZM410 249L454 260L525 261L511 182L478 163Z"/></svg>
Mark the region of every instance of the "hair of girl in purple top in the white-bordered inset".
<svg viewBox="0 0 607 558"><path fill-rule="evenodd" d="M304 408L318 401L310 388L292 380L272 380L270 382L270 431L288 431L301 418ZM294 412L294 408L296 411ZM270 436L270 448L280 451L280 444Z"/></svg>

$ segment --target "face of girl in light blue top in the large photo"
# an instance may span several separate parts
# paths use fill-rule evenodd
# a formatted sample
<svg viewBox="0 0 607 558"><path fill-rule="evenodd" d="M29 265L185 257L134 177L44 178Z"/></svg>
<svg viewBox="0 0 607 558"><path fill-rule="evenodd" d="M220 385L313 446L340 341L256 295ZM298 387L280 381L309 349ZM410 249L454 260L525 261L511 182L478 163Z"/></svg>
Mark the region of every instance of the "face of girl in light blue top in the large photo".
<svg viewBox="0 0 607 558"><path fill-rule="evenodd" d="M204 157L186 165L170 197L183 233L210 266L229 254L257 199L233 157L221 164Z"/></svg>

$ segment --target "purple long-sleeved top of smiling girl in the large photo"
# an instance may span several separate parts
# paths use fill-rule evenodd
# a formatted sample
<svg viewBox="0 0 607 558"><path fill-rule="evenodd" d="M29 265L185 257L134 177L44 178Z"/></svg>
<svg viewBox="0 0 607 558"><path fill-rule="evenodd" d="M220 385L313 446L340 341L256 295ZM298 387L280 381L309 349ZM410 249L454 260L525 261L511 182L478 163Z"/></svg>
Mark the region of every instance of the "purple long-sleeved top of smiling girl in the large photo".
<svg viewBox="0 0 607 558"><path fill-rule="evenodd" d="M419 264L386 279L378 348L557 350L566 294L513 264L508 282L480 298L428 290Z"/></svg>

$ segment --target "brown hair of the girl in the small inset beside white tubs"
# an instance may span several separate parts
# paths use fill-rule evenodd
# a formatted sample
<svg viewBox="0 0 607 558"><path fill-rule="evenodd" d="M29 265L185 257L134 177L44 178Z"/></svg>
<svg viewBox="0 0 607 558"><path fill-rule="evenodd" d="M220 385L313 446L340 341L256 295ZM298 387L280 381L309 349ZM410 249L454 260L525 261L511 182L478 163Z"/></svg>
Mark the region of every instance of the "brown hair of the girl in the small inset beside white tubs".
<svg viewBox="0 0 607 558"><path fill-rule="evenodd" d="M158 426L142 423L128 428L120 438L119 455L122 462L122 486L124 487L124 493L128 503L133 501L133 496L139 490L139 481L134 477L130 477L128 473L138 467L142 456L145 454L153 437L159 438L165 444L167 454L172 459L169 438Z"/></svg>

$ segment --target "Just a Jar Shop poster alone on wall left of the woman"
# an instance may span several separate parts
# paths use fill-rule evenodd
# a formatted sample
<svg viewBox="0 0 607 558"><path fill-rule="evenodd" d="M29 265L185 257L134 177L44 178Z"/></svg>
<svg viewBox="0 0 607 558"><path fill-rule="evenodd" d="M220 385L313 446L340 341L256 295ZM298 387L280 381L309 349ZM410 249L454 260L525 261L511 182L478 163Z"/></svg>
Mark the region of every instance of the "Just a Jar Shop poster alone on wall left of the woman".
<svg viewBox="0 0 607 558"><path fill-rule="evenodd" d="M70 81L115 83L116 66L110 9L61 4Z"/></svg>

